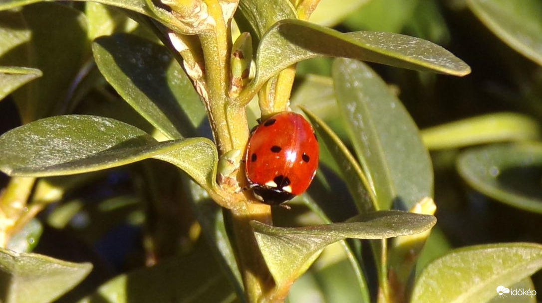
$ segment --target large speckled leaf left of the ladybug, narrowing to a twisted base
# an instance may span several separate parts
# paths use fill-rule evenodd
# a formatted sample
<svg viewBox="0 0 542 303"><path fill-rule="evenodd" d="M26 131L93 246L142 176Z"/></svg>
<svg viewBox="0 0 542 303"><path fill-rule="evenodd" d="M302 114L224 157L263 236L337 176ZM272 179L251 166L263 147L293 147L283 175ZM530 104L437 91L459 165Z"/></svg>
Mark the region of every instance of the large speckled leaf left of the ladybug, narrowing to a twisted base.
<svg viewBox="0 0 542 303"><path fill-rule="evenodd" d="M57 116L0 137L0 169L46 177L103 170L156 158L177 165L199 185L215 184L217 152L205 138L157 142L137 127L97 116Z"/></svg>

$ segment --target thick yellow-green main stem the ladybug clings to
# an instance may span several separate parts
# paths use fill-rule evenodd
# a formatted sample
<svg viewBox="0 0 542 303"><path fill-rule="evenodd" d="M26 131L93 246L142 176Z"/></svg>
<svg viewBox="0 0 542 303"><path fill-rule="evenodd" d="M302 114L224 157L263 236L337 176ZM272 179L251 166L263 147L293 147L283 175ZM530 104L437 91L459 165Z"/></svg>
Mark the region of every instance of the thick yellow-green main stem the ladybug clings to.
<svg viewBox="0 0 542 303"><path fill-rule="evenodd" d="M209 15L215 20L214 31L199 35L205 59L206 94L203 96L208 108L218 152L224 154L233 149L244 151L248 141L248 122L244 105L232 103L229 98L231 37L228 24L222 17L222 9L216 0L206 0ZM245 182L239 173L238 181ZM228 193L235 204L231 207L236 258L243 276L247 299L251 303L260 301L271 291L274 281L254 237L251 220L271 222L268 205L250 203L243 193Z"/></svg>

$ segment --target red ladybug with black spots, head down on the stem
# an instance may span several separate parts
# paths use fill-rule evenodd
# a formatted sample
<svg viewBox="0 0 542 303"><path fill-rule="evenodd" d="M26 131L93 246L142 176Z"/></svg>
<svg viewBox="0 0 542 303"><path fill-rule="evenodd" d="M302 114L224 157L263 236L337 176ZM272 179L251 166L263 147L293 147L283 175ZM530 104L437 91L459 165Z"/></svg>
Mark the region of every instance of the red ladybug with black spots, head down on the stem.
<svg viewBox="0 0 542 303"><path fill-rule="evenodd" d="M278 113L251 132L245 156L248 188L265 204L285 203L311 185L319 154L311 124L298 113Z"/></svg>

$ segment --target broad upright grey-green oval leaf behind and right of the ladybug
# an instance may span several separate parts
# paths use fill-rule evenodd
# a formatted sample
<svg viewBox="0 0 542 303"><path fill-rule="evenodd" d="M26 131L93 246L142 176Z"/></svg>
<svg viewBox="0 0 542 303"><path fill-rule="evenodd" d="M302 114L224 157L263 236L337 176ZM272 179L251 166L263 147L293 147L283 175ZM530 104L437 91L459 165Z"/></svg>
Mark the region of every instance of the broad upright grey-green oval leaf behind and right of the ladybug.
<svg viewBox="0 0 542 303"><path fill-rule="evenodd" d="M365 64L337 59L335 93L379 209L410 210L433 196L433 167L414 120Z"/></svg>

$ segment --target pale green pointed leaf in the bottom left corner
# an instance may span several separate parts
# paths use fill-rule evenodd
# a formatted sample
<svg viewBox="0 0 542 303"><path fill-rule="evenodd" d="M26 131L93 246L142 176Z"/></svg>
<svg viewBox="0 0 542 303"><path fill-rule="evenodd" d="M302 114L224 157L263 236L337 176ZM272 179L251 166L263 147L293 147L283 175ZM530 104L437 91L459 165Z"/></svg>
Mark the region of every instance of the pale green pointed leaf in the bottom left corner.
<svg viewBox="0 0 542 303"><path fill-rule="evenodd" d="M90 263L78 264L0 248L0 301L52 302L79 284L91 270Z"/></svg>

